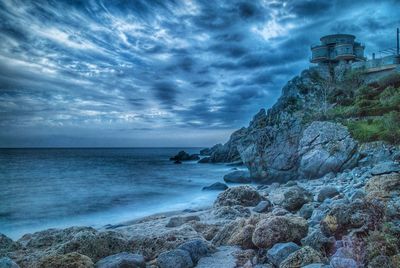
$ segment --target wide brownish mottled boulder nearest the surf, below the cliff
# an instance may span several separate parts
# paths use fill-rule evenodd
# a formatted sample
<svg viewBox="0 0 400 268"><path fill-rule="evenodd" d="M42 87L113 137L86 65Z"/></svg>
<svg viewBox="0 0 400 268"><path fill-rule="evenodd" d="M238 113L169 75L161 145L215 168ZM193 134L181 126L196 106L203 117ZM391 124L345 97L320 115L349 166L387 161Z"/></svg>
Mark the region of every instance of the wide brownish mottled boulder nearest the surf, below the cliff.
<svg viewBox="0 0 400 268"><path fill-rule="evenodd" d="M237 186L220 193L214 202L215 207L241 205L255 206L262 200L261 195L251 186Z"/></svg>

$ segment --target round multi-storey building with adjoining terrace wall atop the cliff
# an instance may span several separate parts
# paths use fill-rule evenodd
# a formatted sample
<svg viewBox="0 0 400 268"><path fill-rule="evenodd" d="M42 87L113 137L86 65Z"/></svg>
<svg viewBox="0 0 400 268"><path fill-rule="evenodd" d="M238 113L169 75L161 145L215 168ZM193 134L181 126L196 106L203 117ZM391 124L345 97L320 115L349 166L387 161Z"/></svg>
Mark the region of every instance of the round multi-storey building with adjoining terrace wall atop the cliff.
<svg viewBox="0 0 400 268"><path fill-rule="evenodd" d="M339 78L346 70L360 70L371 79L390 72L400 72L399 29L396 35L396 48L380 51L384 56L367 59L364 56L365 45L357 42L351 34L332 34L320 38L321 43L311 46L310 62L324 76Z"/></svg>

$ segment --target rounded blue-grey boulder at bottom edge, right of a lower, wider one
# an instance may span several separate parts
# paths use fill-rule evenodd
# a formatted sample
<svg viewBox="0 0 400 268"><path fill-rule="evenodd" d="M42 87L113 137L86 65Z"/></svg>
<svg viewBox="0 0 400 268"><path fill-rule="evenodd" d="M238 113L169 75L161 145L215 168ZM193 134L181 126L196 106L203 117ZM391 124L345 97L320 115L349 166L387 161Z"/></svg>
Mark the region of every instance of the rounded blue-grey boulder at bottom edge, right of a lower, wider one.
<svg viewBox="0 0 400 268"><path fill-rule="evenodd" d="M174 249L161 253L157 258L160 268L190 268L193 261L190 253L182 249Z"/></svg>

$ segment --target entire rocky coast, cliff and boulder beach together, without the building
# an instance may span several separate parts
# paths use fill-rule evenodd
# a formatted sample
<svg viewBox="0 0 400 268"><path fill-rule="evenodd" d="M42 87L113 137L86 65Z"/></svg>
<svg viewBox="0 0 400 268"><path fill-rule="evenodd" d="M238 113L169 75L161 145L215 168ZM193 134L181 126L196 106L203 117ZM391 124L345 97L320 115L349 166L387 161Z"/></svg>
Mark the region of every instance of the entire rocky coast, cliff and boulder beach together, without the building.
<svg viewBox="0 0 400 268"><path fill-rule="evenodd" d="M400 267L400 74L344 67L303 71L200 152L248 169L225 178L247 185L205 185L212 207L1 235L0 267Z"/></svg>

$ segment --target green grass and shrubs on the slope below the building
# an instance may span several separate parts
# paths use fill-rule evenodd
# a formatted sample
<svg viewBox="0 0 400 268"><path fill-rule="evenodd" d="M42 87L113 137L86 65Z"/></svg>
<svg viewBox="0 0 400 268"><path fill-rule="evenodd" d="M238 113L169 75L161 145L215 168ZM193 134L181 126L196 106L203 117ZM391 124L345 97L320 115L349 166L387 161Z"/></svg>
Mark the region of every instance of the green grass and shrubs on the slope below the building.
<svg viewBox="0 0 400 268"><path fill-rule="evenodd" d="M400 74L365 84L360 74L350 73L328 100L335 106L327 112L327 119L346 125L359 141L400 144Z"/></svg>

